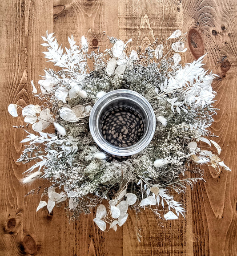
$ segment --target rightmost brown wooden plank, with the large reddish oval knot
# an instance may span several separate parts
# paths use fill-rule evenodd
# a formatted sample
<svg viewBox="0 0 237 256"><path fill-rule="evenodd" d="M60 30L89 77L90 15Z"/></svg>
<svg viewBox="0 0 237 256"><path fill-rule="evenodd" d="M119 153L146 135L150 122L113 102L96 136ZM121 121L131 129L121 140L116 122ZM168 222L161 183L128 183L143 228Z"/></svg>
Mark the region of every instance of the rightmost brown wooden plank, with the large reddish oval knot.
<svg viewBox="0 0 237 256"><path fill-rule="evenodd" d="M215 141L223 150L221 159L233 170L218 174L205 168L207 182L192 191L194 255L237 255L237 2L184 0L182 5L184 28L189 31L186 60L208 53L205 67L220 76L213 83L220 111L211 131L219 136Z"/></svg>

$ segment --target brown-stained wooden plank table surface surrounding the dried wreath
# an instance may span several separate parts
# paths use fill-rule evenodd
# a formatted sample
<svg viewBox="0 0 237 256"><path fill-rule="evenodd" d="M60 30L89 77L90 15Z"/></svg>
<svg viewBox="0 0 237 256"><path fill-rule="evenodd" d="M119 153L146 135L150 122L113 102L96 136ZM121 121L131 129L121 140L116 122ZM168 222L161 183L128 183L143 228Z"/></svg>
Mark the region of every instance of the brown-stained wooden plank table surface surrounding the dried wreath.
<svg viewBox="0 0 237 256"><path fill-rule="evenodd" d="M237 255L237 0L1 0L0 14L0 256L236 256ZM231 173L205 168L206 183L176 195L186 219L161 221L150 211L129 213L116 232L101 232L93 213L68 223L63 207L36 213L40 186L20 184L26 166L16 163L24 133L12 128L22 118L7 113L10 103L36 103L31 80L43 75L46 62L41 36L55 32L59 42L85 35L90 50L105 49L103 32L133 49L176 29L187 32L185 62L208 53L206 68L219 78L211 130L219 136L221 158ZM108 41L107 41L108 42ZM141 242L137 240L140 234Z"/></svg>

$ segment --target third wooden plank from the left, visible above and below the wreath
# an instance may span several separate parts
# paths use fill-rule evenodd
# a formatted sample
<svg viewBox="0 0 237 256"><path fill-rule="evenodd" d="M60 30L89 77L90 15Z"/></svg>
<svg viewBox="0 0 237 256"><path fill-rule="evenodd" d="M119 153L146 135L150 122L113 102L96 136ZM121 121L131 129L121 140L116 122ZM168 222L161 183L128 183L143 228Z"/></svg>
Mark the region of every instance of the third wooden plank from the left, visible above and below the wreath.
<svg viewBox="0 0 237 256"><path fill-rule="evenodd" d="M182 27L180 4L174 1L125 0L119 4L119 38L133 39L133 47L145 49L157 38L167 39L173 31ZM184 201L185 196L175 195L175 200ZM186 222L161 221L152 211L136 215L130 211L129 220L123 228L123 255L185 255ZM137 236L141 236L138 241Z"/></svg>

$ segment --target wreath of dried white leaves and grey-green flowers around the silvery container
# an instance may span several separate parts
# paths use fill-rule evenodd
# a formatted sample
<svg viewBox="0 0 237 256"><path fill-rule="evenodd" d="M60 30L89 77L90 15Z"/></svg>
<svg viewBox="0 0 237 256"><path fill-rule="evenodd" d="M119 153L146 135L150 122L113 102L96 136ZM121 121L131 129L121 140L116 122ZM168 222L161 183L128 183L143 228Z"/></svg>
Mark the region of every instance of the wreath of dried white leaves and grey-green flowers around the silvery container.
<svg viewBox="0 0 237 256"><path fill-rule="evenodd" d="M218 157L220 146L206 138L213 136L207 128L217 110L212 105L216 93L211 86L216 75L202 68L203 57L184 67L180 65L180 53L186 51L180 30L164 44L155 41L144 52L129 51L132 40L124 43L114 37L109 38L112 48L104 53L99 49L88 53L85 37L81 38L81 47L73 37L68 37L70 47L65 47L65 51L53 33L47 32L42 38L45 41L42 45L48 49L45 57L61 69L44 70L38 94L32 81L32 93L41 106L8 106L14 117L22 109L27 123L14 126L27 133L22 142L28 143L18 161L36 162L26 171L29 175L22 183L38 178L52 182L42 193L42 198L48 196L48 202L41 200L36 211L47 206L50 213L56 203L68 200L68 212L77 217L97 206L94 221L103 231L110 228L116 231L117 225L123 225L129 206L136 210L149 208L166 220L177 219L185 215L185 209L171 192L184 192L187 185L202 180L201 164L209 164L217 171L221 167L231 171ZM142 95L152 106L157 121L149 145L128 157L101 150L89 128L92 106L108 92L118 89ZM117 127L116 118L123 121L119 131L116 130L119 127L106 126L103 134L110 144L129 147L143 136L141 116L137 119L133 111L115 107L105 116L110 121L107 126ZM28 124L32 124L36 134L28 130ZM42 131L48 126L54 126L55 133ZM217 154L206 149L211 144ZM185 178L187 171L195 177ZM108 211L103 199L108 200Z"/></svg>

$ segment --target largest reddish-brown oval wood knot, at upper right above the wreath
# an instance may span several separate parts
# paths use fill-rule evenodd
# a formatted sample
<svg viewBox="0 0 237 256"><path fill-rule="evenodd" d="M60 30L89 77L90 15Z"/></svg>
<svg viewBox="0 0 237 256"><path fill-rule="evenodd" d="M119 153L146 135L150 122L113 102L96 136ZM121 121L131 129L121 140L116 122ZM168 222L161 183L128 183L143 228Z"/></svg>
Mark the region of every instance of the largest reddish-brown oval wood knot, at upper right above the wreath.
<svg viewBox="0 0 237 256"><path fill-rule="evenodd" d="M189 49L197 60L204 55L204 43L200 33L195 28L191 28L188 34Z"/></svg>

